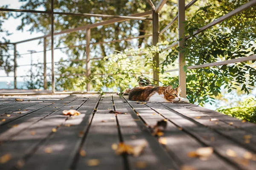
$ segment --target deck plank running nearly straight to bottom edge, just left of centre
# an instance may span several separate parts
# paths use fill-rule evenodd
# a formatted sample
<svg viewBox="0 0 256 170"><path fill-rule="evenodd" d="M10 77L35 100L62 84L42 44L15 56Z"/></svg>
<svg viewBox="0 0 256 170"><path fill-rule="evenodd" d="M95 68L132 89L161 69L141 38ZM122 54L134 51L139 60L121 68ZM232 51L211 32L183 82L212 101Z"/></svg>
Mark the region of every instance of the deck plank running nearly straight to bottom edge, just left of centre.
<svg viewBox="0 0 256 170"><path fill-rule="evenodd" d="M117 156L111 149L113 143L119 143L116 118L108 109L113 109L112 96L102 96L102 99L110 100L108 103L99 102L96 113L93 116L90 129L81 150L85 150L87 156L79 157L76 169L124 169L122 156ZM102 122L106 121L106 122ZM97 166L90 166L90 161L99 161Z"/></svg>

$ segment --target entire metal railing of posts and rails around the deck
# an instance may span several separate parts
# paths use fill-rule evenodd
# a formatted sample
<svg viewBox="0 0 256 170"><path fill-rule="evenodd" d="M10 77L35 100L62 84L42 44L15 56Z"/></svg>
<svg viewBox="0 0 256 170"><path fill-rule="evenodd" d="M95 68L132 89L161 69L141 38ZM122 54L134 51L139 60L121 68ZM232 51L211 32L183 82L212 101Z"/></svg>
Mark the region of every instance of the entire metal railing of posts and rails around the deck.
<svg viewBox="0 0 256 170"><path fill-rule="evenodd" d="M185 10L188 9L190 6L192 6L194 3L197 2L197 0L192 0L190 3L188 3L185 6L185 0L178 0L178 14L177 16L174 17L174 19L171 21L171 23L169 23L165 28L163 28L161 31L159 30L159 11L161 10L161 8L164 6L164 4L167 2L167 0L160 0L160 2L157 4L157 6L154 6L154 4L152 3L151 0L147 0L148 3L150 4L152 10L151 11L145 11L143 13L138 13L138 14L132 14L129 16L113 16L113 15L102 15L102 14L78 14L78 13L64 13L64 12L54 12L53 9L53 0L51 0L51 11L35 11L35 10L22 10L22 9L3 9L0 8L0 11L15 11L15 12L32 12L32 13L43 13L43 14L51 14L51 34L49 35L44 35L41 37L35 37L32 39L28 39L28 40L22 40L19 42L13 42L13 43L3 43L3 44L13 44L14 45L14 63L15 63L15 75L14 75L14 79L15 79L15 88L16 88L16 67L17 67L17 63L16 63L16 58L17 58L17 52L16 52L16 45L19 43L23 43L23 42L28 42L28 41L33 41L33 40L39 40L39 39L44 39L44 51L36 51L36 52L44 52L44 63L39 63L39 64L44 64L44 85L46 85L46 64L48 64L46 62L46 51L49 51L46 49L46 38L47 37L51 37L51 51L52 51L52 62L50 62L52 64L52 94L55 94L55 82L54 82L54 47L53 47L53 42L54 42L54 36L55 35L59 35L59 34L66 34L66 33L71 33L71 32L76 32L79 30L86 30L86 44L81 44L86 46L86 59L78 59L78 60L66 60L66 61L82 61L82 60L86 60L86 76L88 77L90 75L90 44L102 44L102 43L111 43L111 42L119 42L119 41L125 41L125 40L131 40L134 38L144 38L144 37L149 37L152 36L152 45L157 45L158 41L159 41L159 35L163 34L166 30L168 30L173 23L175 23L175 21L178 21L178 39L182 38L181 36L183 35L183 33L185 32L185 27L184 27L184 22L185 22ZM241 11L244 11L248 8L250 8L251 6L255 6L256 5L256 0L251 0L248 3L245 3L244 5L240 6L239 8L236 8L235 10L225 14L224 16L212 21L211 23L207 24L206 26L203 26L202 28L199 28L197 31L193 32L193 36L199 34L200 32L211 28L212 26L215 26L218 23L221 23L224 20L227 20L228 18L234 16L235 14L240 13ZM54 23L53 23L53 17L55 14L62 14L62 15L75 15L75 16L84 16L84 17L108 17L108 18L114 18L111 20L106 20L106 21L102 21L100 23L93 23L87 26L81 26L81 27L77 27L77 28L73 28L73 29L67 29L64 31L60 31L57 33L54 33ZM147 18L148 16L152 16L151 18ZM116 23L116 22L122 22L125 20L144 20L144 21L151 21L152 22L152 34L150 35L144 35L144 36L138 36L138 37L133 37L133 38L126 38L126 39L122 39L122 40L113 40L110 42L95 42L95 43L90 43L90 29L91 28L95 28L97 26L105 26L105 25L109 25L112 23ZM190 36L183 38L181 41L176 41L174 43L172 43L172 45L169 45L168 47L164 48L163 51L166 51L172 47L175 46L179 46L179 47L183 47L185 45L185 41L190 38ZM89 42L89 43L88 43ZM81 46L81 45L73 45L73 46L68 46L68 47L61 47L61 48L71 48L71 47L76 47L76 46ZM55 48L55 49L61 49L61 48ZM164 71L165 73L167 72L172 72L172 71L179 71L179 84L180 87L182 88L182 97L186 97L186 73L183 71L183 66L185 65L185 62L183 62L183 58L184 58L184 54L180 53L178 54L178 65L179 68L178 69L173 69L173 70L168 70L168 71ZM102 59L102 58L96 58L96 59ZM249 57L244 57L244 58L238 58L238 59L230 59L227 61L223 61L223 62L213 62L213 63L207 63L207 64L201 64L201 65L194 65L194 66L189 66L188 69L195 69L195 68L204 68L204 67L212 67L212 66L217 66L217 65L226 65L226 64L230 64L230 63L235 63L235 62L244 62L244 61L250 61L250 60L255 60L256 56L249 56ZM60 61L60 62L66 62L66 61ZM159 54L156 54L154 56L154 62L156 63L156 65L159 65ZM159 73L157 72L158 68L154 69L153 72L153 78L156 80L159 80ZM46 86L44 87L45 89L47 88ZM90 91L90 84L87 84L87 92Z"/></svg>

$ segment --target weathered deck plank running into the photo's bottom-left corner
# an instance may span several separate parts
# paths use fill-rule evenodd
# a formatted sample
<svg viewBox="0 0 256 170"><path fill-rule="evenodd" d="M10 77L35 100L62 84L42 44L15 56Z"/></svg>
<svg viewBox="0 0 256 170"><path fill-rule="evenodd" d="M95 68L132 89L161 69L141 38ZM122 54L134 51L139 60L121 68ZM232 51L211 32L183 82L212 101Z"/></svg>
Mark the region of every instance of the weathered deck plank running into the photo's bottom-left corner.
<svg viewBox="0 0 256 170"><path fill-rule="evenodd" d="M64 116L62 111L69 109L73 106L73 109L78 109L77 106L84 103L82 99L76 99L70 102L63 108L59 109L55 113L47 116L45 119L33 124L28 129L22 131L17 136L12 138L12 141L3 143L0 145L0 156L7 153L11 155L11 159L5 164L0 164L0 169L11 169L17 164L17 161L26 161L35 150L43 144L54 132L52 128L58 129L58 125L63 125L70 116ZM12 127L15 128L15 127ZM32 134L34 132L34 134Z"/></svg>

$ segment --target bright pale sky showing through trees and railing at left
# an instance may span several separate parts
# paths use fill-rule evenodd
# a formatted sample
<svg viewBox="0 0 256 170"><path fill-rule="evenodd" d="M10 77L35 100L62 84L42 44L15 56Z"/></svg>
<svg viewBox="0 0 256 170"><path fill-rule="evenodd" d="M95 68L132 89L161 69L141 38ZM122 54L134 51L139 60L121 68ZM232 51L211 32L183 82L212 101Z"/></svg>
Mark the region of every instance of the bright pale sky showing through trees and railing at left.
<svg viewBox="0 0 256 170"><path fill-rule="evenodd" d="M19 9L20 6L22 6L25 2L19 2L18 0L0 0L0 5L9 5L9 8L14 8L14 9ZM37 10L44 10L44 9L37 9ZM15 12L13 12L15 13ZM14 19L14 18L9 18L6 20L5 23L3 23L3 29L8 30L12 35L8 36L7 39L10 40L10 42L17 42L21 40L26 40L26 39L31 39L35 37L40 37L43 36L44 34L42 33L36 33L33 32L32 34L27 31L29 29L28 26L25 27L24 31L17 31L17 26L19 26L21 23L20 18ZM3 34L0 36L3 36ZM24 53L29 53L29 50L33 51L43 51L44 46L43 43L39 44L40 40L34 40L34 41L29 41L29 42L24 42L17 44L17 52L19 54L24 54ZM49 47L48 47L49 49ZM14 53L14 51L10 52L11 54ZM61 57L64 59L67 59L67 55L62 53L60 50L56 49L54 50L54 60L55 62L58 61ZM13 56L12 56L13 58ZM44 53L34 53L32 54L32 63L42 63L44 62ZM51 62L51 51L47 51L47 62ZM31 63L31 55L26 54L22 55L20 58L17 58L17 65L28 65ZM51 64L47 64L48 67L51 66ZM17 76L25 76L28 75L27 72L31 69L30 66L20 66L17 68ZM35 71L35 66L33 66L33 71ZM0 75L1 76L6 76L5 71L0 70ZM0 77L0 82L5 82L5 81L13 81L14 78L14 73L10 73L9 77ZM17 77L17 81L23 81L23 77Z"/></svg>

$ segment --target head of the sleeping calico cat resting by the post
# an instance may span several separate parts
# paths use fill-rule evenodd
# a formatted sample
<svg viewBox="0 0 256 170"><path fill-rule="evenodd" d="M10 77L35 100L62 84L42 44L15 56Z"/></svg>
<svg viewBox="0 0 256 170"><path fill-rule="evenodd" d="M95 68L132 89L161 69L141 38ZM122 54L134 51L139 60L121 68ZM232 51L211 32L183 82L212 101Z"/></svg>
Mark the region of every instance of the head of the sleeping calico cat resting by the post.
<svg viewBox="0 0 256 170"><path fill-rule="evenodd" d="M163 92L164 98L168 100L169 102L179 102L181 100L181 94L180 94L180 86L177 88L172 88L171 85L169 85L166 90Z"/></svg>

